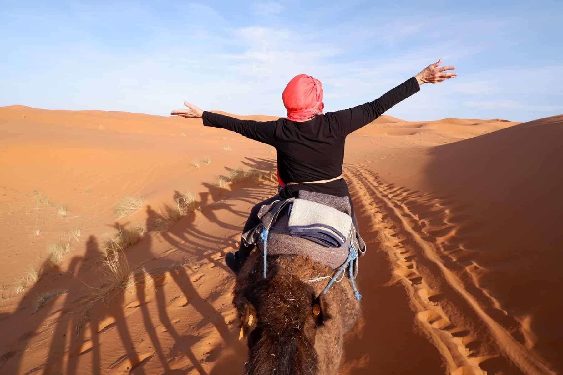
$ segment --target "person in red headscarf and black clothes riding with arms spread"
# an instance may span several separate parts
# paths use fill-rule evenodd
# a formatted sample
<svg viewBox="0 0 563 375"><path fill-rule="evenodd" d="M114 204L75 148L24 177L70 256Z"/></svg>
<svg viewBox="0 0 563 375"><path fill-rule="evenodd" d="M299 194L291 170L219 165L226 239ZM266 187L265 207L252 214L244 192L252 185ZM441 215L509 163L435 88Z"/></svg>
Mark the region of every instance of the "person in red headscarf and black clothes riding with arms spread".
<svg viewBox="0 0 563 375"><path fill-rule="evenodd" d="M239 120L203 111L188 102L184 102L188 109L175 110L171 114L202 118L204 126L232 130L275 147L278 152L279 193L253 207L244 225L244 233L260 224L257 214L262 205L297 197L300 190L350 198L346 181L341 176L346 136L418 92L423 83L440 83L457 76L457 73L446 71L455 69L453 66L439 67L440 62L441 59L428 65L373 102L347 110L323 114L323 85L310 75L300 74L289 81L282 93L287 118ZM226 264L235 274L239 273L253 247L241 239L239 251L225 256Z"/></svg>

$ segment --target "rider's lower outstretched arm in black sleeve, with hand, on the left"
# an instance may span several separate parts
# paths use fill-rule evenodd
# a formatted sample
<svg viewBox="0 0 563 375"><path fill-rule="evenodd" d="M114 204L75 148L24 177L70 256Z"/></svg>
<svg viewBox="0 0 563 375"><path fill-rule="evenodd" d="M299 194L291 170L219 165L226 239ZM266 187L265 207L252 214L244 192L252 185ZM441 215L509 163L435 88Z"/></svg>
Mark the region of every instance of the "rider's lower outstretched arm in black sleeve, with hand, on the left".
<svg viewBox="0 0 563 375"><path fill-rule="evenodd" d="M182 116L187 119L202 118L204 126L223 128L244 135L255 141L272 144L274 143L276 121L252 121L239 120L234 117L203 111L199 107L184 102L188 107L185 110L174 110L170 114Z"/></svg>

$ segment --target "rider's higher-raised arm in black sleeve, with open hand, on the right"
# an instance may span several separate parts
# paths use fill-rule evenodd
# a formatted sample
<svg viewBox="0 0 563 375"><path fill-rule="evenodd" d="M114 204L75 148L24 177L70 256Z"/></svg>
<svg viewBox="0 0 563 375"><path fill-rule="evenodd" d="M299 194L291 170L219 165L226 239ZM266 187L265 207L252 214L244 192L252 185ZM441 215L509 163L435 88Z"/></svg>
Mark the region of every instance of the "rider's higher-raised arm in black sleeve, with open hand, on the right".
<svg viewBox="0 0 563 375"><path fill-rule="evenodd" d="M336 118L339 132L346 136L377 119L400 101L405 100L420 90L423 83L440 83L457 76L457 73L446 72L455 69L453 66L440 66L442 59L428 65L420 73L383 94L373 102L368 102L348 110L332 112Z"/></svg>

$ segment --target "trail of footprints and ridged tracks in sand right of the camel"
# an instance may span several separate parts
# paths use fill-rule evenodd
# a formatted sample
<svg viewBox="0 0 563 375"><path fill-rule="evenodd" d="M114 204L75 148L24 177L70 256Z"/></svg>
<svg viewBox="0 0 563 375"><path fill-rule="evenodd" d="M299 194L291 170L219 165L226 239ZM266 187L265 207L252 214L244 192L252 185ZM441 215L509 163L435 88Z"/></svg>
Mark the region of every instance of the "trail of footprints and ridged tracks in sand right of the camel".
<svg viewBox="0 0 563 375"><path fill-rule="evenodd" d="M369 227L361 228L364 240L387 252L421 327L450 373L485 374L514 367L523 373L552 373L487 314L467 288L480 297L490 296L458 278L465 269L463 261L471 257L457 237L456 220L463 219L463 207L452 207L451 197L386 184L362 165L347 166L344 175L352 196L360 201L358 211L370 218Z"/></svg>

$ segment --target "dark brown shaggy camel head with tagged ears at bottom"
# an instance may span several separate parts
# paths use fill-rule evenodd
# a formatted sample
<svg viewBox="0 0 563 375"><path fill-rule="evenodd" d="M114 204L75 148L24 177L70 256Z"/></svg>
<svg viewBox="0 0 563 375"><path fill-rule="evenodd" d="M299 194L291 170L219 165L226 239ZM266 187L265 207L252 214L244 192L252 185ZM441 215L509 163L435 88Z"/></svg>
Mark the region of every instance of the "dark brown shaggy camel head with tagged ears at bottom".
<svg viewBox="0 0 563 375"><path fill-rule="evenodd" d="M315 335L328 317L309 284L278 273L235 292L233 303L248 337L247 374L318 374Z"/></svg>

